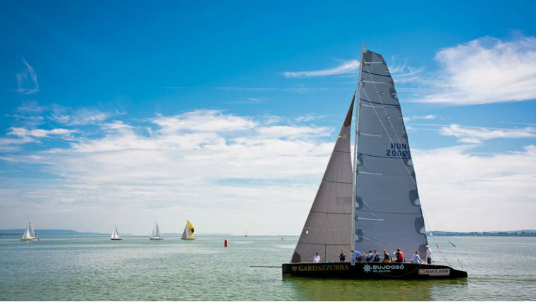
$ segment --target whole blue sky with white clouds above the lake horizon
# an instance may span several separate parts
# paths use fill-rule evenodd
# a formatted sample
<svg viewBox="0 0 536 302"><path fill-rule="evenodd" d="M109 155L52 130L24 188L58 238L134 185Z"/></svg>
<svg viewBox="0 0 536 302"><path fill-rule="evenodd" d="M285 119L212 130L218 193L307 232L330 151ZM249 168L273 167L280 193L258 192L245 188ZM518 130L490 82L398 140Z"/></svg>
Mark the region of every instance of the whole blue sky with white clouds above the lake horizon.
<svg viewBox="0 0 536 302"><path fill-rule="evenodd" d="M381 53L428 230L536 229L534 1L1 1L0 229L299 234Z"/></svg>

